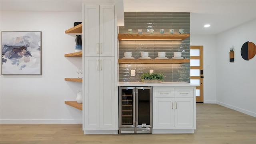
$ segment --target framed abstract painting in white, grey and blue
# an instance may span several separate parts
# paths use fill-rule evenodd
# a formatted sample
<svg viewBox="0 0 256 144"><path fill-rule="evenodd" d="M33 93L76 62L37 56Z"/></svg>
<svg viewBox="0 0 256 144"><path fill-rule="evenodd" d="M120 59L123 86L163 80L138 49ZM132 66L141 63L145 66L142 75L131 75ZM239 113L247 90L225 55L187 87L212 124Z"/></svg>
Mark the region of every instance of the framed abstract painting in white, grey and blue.
<svg viewBox="0 0 256 144"><path fill-rule="evenodd" d="M42 32L2 31L2 74L42 74Z"/></svg>

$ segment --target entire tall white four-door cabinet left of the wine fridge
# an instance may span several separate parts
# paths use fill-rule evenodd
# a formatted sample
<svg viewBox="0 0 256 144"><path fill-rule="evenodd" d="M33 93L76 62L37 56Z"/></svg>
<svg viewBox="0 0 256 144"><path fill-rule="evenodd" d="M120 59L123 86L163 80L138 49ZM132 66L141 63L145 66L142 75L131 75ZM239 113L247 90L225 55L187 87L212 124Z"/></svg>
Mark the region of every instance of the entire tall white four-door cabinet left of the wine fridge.
<svg viewBox="0 0 256 144"><path fill-rule="evenodd" d="M115 6L84 4L83 17L84 134L115 134Z"/></svg>

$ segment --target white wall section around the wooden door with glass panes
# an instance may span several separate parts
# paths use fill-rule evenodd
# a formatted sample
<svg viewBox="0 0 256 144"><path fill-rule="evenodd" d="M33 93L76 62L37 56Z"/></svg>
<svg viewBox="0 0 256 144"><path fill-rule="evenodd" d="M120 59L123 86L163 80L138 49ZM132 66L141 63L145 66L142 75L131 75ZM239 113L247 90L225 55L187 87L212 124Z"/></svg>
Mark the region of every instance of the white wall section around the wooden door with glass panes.
<svg viewBox="0 0 256 144"><path fill-rule="evenodd" d="M204 103L216 103L216 36L190 34L191 46L204 46Z"/></svg>

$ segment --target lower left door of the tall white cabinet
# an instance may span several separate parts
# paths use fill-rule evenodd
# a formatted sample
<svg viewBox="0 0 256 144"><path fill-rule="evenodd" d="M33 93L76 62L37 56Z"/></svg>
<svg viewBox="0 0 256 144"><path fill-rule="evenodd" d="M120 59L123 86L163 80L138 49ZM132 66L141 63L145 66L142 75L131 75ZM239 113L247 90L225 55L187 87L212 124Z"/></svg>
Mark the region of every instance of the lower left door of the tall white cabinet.
<svg viewBox="0 0 256 144"><path fill-rule="evenodd" d="M84 58L85 128L100 128L100 58Z"/></svg>

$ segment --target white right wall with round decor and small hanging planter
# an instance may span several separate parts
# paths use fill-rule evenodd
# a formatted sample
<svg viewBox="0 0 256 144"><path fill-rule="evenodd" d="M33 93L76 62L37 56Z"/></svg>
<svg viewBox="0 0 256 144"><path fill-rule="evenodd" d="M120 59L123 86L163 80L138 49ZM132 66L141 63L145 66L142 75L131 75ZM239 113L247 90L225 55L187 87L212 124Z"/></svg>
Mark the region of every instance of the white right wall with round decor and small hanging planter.
<svg viewBox="0 0 256 144"><path fill-rule="evenodd" d="M216 36L216 101L217 104L256 117L256 56L244 60L242 45L256 44L256 19ZM229 50L234 46L234 62Z"/></svg>

